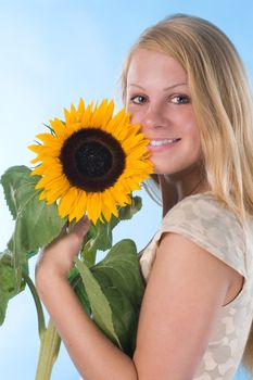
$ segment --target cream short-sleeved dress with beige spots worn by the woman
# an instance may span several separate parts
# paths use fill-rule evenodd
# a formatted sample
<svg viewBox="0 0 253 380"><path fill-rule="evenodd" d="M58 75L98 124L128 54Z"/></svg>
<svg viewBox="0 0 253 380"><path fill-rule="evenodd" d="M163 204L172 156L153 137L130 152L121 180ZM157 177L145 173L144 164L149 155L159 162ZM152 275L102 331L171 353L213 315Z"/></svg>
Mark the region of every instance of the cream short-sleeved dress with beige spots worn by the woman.
<svg viewBox="0 0 253 380"><path fill-rule="evenodd" d="M193 380L231 380L240 365L253 319L253 219L244 230L211 192L185 198L165 215L140 257L148 281L163 232L177 232L244 277L243 288L223 306Z"/></svg>

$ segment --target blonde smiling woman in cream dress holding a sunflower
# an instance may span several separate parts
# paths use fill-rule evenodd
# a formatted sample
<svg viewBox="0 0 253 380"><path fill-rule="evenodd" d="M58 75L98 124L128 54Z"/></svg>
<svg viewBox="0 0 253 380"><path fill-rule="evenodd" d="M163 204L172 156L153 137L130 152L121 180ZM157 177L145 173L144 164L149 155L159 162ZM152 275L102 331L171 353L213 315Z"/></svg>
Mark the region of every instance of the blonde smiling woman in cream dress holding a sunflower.
<svg viewBox="0 0 253 380"><path fill-rule="evenodd" d="M132 47L123 99L150 139L164 216L140 259L147 288L134 358L67 283L87 219L42 253L39 294L85 379L232 379L253 317L253 117L241 61L215 26L175 15ZM249 366L252 349L249 339Z"/></svg>

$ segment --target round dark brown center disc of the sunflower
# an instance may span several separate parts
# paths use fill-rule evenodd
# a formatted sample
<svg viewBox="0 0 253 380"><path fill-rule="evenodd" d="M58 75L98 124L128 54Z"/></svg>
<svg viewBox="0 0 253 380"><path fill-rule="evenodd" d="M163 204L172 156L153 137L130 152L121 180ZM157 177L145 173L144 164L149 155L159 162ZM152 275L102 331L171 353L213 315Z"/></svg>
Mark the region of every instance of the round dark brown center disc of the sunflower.
<svg viewBox="0 0 253 380"><path fill-rule="evenodd" d="M100 128L74 132L62 147L60 161L72 186L101 192L113 186L125 168L125 152L111 134Z"/></svg>

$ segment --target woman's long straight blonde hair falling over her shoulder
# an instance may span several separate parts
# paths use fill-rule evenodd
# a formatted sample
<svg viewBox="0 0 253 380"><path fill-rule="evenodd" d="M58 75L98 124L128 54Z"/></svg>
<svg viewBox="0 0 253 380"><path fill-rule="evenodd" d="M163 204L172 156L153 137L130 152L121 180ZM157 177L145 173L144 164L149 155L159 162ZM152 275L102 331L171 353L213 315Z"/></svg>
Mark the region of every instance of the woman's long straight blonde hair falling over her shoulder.
<svg viewBox="0 0 253 380"><path fill-rule="evenodd" d="M184 14L165 18L144 30L131 48L122 73L124 101L137 49L173 56L186 71L206 180L243 226L246 213L253 215L253 103L250 81L233 45L205 20ZM253 328L243 364L253 375Z"/></svg>

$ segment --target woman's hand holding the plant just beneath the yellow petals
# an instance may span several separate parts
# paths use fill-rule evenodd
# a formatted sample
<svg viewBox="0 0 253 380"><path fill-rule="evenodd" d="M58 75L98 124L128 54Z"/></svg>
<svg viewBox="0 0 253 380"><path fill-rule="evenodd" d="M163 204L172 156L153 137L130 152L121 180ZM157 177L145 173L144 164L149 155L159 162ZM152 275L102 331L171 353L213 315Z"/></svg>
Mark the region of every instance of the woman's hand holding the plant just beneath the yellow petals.
<svg viewBox="0 0 253 380"><path fill-rule="evenodd" d="M45 279L52 276L67 278L78 254L83 240L90 227L87 217L81 218L71 230L64 226L60 236L48 246L41 250L36 265L36 284L39 287Z"/></svg>

